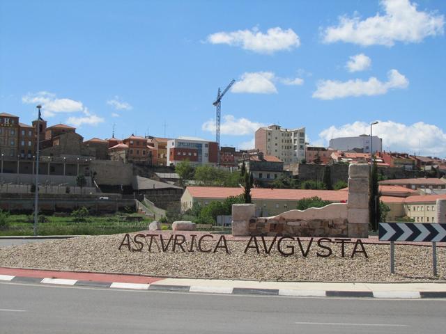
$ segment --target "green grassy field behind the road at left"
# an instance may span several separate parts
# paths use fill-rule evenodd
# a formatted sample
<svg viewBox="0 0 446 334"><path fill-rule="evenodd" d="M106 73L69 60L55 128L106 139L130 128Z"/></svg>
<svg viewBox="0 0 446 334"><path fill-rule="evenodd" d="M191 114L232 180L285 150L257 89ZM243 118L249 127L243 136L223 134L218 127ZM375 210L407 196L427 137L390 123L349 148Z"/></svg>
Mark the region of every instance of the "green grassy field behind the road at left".
<svg viewBox="0 0 446 334"><path fill-rule="evenodd" d="M70 216L39 216L38 235L97 235L146 230L151 219L141 214L104 214L75 218ZM11 214L8 227L0 228L0 236L33 235L33 216Z"/></svg>

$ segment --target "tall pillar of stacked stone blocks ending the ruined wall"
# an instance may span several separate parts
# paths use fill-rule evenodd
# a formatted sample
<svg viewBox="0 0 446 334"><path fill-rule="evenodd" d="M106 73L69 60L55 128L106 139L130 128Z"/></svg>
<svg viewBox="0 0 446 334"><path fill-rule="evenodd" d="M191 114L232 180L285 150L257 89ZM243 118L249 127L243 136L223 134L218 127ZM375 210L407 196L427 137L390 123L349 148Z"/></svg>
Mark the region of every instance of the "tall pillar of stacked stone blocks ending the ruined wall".
<svg viewBox="0 0 446 334"><path fill-rule="evenodd" d="M348 237L369 237L369 165L348 167Z"/></svg>

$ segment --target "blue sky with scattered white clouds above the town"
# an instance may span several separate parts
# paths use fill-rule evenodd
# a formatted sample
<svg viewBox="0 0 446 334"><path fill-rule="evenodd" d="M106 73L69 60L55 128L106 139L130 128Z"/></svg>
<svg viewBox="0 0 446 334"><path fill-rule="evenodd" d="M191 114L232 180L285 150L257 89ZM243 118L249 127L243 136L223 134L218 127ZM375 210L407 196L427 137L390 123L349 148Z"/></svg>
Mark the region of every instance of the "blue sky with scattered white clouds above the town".
<svg viewBox="0 0 446 334"><path fill-rule="evenodd" d="M310 143L374 133L446 157L446 1L1 1L0 112L89 139L247 148L272 123ZM350 62L350 65L348 65Z"/></svg>

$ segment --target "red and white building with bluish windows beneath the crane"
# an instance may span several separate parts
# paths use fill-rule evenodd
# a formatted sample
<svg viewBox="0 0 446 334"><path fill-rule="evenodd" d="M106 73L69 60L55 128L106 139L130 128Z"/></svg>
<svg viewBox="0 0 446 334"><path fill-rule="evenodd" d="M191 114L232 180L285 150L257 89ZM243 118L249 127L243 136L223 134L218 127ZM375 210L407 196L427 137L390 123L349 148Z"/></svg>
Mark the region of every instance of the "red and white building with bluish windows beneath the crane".
<svg viewBox="0 0 446 334"><path fill-rule="evenodd" d="M167 141L167 166L176 166L184 160L197 166L215 165L217 159L218 144L215 141L195 137L179 137Z"/></svg>

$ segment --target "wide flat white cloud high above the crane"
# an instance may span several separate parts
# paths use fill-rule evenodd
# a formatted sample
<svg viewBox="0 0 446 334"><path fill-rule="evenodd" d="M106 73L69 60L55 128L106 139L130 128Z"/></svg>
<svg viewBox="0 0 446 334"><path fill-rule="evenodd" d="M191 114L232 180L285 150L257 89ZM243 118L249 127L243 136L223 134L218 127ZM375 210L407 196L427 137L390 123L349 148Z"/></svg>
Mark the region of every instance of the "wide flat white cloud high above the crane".
<svg viewBox="0 0 446 334"><path fill-rule="evenodd" d="M292 29L282 30L280 27L270 28L266 33L262 33L256 28L231 32L221 31L208 35L208 42L242 47L259 54L272 54L300 45L299 36Z"/></svg>

